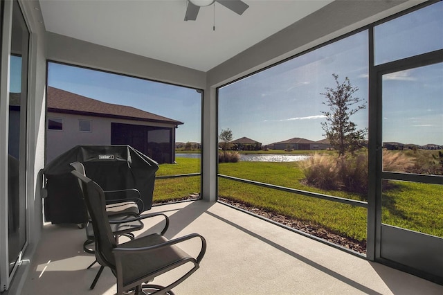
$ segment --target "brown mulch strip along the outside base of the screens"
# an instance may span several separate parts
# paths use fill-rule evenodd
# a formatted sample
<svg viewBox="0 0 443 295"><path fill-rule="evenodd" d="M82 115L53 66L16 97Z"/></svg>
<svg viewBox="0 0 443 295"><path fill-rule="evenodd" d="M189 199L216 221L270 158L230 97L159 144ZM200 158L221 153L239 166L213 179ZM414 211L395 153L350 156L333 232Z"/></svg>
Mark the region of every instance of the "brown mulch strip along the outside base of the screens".
<svg viewBox="0 0 443 295"><path fill-rule="evenodd" d="M174 202L192 201L192 200L197 200L197 199L199 199L199 195L192 194L192 195L182 197L182 198L154 202L154 204L156 204L156 205L170 204L170 203L174 203ZM347 249L351 249L351 250L359 252L359 253L366 253L366 242L365 241L361 242L359 240L355 240L352 238L343 237L342 235L338 235L336 233L333 233L332 231L329 231L328 229L325 229L323 226L320 226L318 224L313 224L311 222L306 222L306 221L302 221L302 220L296 220L296 219L293 219L291 217L287 217L284 215L278 215L278 214L273 213L272 211L264 210L262 208L255 208L254 206L251 206L250 204L235 202L233 200L226 199L224 197L219 197L219 201L229 204L231 206L235 206L235 207L240 208L244 211L251 212L255 215L260 215L266 219L272 220L274 222L278 222L280 224L283 224L284 226L288 226L291 229L297 229L298 231L302 231L304 233L309 233L309 235L315 235L318 238L322 238L323 240L327 240L327 241L332 242L334 244L341 245L342 247L345 247Z"/></svg>

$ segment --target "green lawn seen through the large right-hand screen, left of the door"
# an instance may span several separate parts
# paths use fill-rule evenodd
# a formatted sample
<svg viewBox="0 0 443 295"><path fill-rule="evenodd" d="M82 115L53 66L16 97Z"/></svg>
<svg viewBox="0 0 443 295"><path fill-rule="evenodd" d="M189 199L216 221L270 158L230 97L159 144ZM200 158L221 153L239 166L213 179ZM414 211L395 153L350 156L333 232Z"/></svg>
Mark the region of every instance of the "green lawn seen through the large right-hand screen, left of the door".
<svg viewBox="0 0 443 295"><path fill-rule="evenodd" d="M300 182L305 178L296 162L239 162L219 164L219 173L251 179L276 186L286 186L314 193L359 200L358 194L342 191L332 193L312 188ZM237 181L219 179L219 195L273 211L280 215L320 224L334 233L356 240L366 239L366 210L322 199L284 193Z"/></svg>

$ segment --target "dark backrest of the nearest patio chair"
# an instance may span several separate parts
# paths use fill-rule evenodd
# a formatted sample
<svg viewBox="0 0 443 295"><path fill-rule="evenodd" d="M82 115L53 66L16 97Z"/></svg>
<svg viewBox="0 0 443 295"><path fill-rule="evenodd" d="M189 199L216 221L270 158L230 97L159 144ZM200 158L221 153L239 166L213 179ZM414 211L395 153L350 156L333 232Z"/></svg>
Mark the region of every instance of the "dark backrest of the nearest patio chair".
<svg viewBox="0 0 443 295"><path fill-rule="evenodd" d="M116 261L112 249L117 247L116 239L109 226L106 212L105 193L102 188L77 170L71 173L79 179L84 201L87 205L96 240L96 258L101 265L116 268Z"/></svg>

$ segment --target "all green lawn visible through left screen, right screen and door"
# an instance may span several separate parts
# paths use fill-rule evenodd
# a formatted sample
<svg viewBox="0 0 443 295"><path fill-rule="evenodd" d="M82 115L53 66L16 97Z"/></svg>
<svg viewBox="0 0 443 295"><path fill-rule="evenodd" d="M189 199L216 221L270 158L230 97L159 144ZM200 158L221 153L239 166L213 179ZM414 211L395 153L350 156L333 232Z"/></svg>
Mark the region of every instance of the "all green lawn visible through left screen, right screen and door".
<svg viewBox="0 0 443 295"><path fill-rule="evenodd" d="M177 158L177 164L162 164L156 175L179 175L200 172L199 159ZM267 184L285 186L336 197L359 200L356 193L335 190L320 190L307 186L305 175L296 162L238 162L220 163L219 173ZM199 193L200 177L157 179L154 201L185 197ZM417 184L405 181L390 183L383 193L382 221L443 237L443 190L435 184ZM304 197L278 190L242 184L228 179L219 179L219 195L325 226L356 240L366 239L366 209L336 202Z"/></svg>

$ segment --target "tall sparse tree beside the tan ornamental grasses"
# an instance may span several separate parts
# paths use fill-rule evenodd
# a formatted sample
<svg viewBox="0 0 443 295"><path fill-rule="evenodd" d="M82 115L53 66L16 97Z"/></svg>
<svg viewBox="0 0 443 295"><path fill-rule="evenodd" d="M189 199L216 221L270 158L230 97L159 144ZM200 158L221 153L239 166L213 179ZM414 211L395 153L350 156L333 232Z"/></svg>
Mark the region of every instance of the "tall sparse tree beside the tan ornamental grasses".
<svg viewBox="0 0 443 295"><path fill-rule="evenodd" d="M363 99L353 96L359 88L352 87L349 78L346 77L345 81L340 83L338 75L334 73L332 76L336 87L327 87L326 93L320 93L326 97L323 105L329 107L329 111L322 111L322 114L326 116L326 122L322 122L321 125L325 131L323 136L326 136L331 146L338 150L338 155L343 156L345 152L353 153L359 150L365 143L368 128L356 129L350 117L360 109L365 109L366 104ZM356 106L352 108L353 105Z"/></svg>

